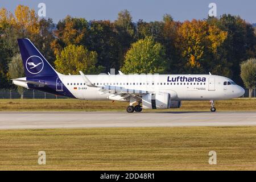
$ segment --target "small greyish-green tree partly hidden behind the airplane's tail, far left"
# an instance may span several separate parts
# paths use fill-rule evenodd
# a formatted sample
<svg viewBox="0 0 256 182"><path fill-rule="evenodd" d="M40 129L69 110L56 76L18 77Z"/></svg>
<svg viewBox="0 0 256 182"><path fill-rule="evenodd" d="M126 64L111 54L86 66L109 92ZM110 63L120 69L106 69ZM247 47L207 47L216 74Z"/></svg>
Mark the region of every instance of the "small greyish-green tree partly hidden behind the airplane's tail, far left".
<svg viewBox="0 0 256 182"><path fill-rule="evenodd" d="M24 67L22 63L22 58L19 53L13 56L9 63L9 71L8 75L11 79L24 77ZM20 94L20 98L23 99L23 87L18 86L18 92Z"/></svg>

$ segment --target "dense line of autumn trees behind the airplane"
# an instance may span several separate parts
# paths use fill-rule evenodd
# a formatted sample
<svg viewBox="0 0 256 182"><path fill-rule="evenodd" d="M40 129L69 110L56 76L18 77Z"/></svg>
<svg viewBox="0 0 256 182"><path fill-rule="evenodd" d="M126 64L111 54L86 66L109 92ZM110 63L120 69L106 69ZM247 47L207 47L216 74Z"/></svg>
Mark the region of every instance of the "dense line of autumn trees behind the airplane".
<svg viewBox="0 0 256 182"><path fill-rule="evenodd" d="M123 73L210 72L242 85L240 64L256 57L256 30L240 16L179 22L165 14L161 21L134 23L123 10L113 22L68 15L55 24L19 5L14 14L0 10L2 89L14 89L10 79L24 76L17 38L29 38L63 74L106 73L110 68Z"/></svg>

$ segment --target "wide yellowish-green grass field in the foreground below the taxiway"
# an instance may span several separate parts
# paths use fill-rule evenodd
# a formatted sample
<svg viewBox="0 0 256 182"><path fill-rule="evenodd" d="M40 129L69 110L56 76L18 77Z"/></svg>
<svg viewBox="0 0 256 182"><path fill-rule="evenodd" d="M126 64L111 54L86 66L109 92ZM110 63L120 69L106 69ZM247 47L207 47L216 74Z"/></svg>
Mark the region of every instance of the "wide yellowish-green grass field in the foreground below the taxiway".
<svg viewBox="0 0 256 182"><path fill-rule="evenodd" d="M256 170L255 126L0 130L0 141L1 170Z"/></svg>

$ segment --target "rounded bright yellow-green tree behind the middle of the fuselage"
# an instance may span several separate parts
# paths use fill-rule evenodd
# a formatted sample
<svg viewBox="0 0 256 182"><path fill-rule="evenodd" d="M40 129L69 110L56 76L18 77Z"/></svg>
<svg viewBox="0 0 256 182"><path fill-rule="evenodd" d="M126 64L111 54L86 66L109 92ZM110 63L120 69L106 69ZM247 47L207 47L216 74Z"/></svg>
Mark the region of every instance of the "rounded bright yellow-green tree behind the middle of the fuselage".
<svg viewBox="0 0 256 182"><path fill-rule="evenodd" d="M166 54L152 37L138 40L125 55L124 73L164 73L168 68Z"/></svg>

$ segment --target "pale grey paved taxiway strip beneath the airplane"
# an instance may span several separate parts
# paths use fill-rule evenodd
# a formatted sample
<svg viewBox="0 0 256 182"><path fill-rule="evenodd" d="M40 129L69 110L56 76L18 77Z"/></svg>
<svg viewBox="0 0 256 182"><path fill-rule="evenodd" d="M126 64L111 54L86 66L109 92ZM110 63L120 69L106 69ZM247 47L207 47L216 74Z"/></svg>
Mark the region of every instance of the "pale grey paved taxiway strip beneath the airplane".
<svg viewBox="0 0 256 182"><path fill-rule="evenodd" d="M0 112L0 129L253 125L256 112Z"/></svg>

